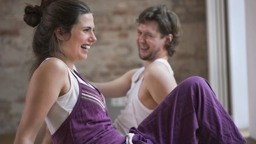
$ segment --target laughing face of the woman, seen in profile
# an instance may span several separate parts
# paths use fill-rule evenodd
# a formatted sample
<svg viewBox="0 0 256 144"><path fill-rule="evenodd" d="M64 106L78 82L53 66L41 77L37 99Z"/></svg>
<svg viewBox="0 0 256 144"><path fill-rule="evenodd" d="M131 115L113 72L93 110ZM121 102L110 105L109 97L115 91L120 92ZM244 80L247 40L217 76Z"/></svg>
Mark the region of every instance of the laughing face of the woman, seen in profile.
<svg viewBox="0 0 256 144"><path fill-rule="evenodd" d="M64 35L63 50L70 61L74 62L87 58L88 50L96 41L93 31L93 15L89 13L80 16L80 22L72 27L71 37L69 34ZM70 38L65 41L65 37Z"/></svg>

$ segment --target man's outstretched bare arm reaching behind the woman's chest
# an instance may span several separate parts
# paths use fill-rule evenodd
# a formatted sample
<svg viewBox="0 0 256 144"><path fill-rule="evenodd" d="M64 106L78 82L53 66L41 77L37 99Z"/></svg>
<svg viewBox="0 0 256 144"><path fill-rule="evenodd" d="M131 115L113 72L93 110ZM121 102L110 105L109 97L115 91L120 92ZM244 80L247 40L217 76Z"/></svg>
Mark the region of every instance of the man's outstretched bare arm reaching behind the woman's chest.
<svg viewBox="0 0 256 144"><path fill-rule="evenodd" d="M96 88L98 88L105 98L117 98L125 96L126 92L130 89L132 83L132 76L137 71L137 69L130 70L113 81L108 81L105 83L92 83Z"/></svg>

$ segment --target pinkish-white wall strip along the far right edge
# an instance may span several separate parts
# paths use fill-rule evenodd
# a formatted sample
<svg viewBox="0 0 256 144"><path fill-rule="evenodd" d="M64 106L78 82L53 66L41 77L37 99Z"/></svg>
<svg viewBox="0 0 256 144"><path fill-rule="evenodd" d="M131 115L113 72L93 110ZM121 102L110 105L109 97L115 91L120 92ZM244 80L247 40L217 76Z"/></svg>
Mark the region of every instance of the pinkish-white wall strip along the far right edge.
<svg viewBox="0 0 256 144"><path fill-rule="evenodd" d="M245 0L250 137L256 139L256 0Z"/></svg>

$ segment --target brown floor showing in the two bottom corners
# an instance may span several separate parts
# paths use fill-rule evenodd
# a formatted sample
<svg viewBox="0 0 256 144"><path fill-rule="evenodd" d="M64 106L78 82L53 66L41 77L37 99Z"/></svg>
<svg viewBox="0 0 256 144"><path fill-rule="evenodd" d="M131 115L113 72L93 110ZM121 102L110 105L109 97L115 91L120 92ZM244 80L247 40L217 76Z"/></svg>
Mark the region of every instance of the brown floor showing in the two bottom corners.
<svg viewBox="0 0 256 144"><path fill-rule="evenodd" d="M0 144L13 144L15 134L0 135ZM247 144L256 144L256 140L252 138L246 138Z"/></svg>

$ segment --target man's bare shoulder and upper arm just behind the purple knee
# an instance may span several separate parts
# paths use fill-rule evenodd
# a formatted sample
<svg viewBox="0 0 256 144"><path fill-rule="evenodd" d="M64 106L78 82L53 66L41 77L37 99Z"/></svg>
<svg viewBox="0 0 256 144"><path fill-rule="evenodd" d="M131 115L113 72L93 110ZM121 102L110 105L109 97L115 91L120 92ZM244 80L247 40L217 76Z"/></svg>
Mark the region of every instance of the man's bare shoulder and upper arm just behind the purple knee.
<svg viewBox="0 0 256 144"><path fill-rule="evenodd" d="M145 71L146 89L154 101L159 104L176 86L176 80L162 63L154 63Z"/></svg>

